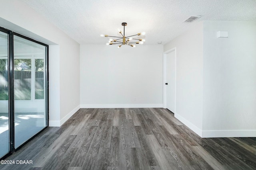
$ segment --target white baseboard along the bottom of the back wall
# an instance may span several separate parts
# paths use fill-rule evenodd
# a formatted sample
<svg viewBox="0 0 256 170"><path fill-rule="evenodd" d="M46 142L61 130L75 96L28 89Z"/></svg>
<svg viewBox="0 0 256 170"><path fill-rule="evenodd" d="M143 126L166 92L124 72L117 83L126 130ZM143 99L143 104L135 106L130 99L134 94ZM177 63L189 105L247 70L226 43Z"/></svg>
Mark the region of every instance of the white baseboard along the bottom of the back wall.
<svg viewBox="0 0 256 170"><path fill-rule="evenodd" d="M81 108L157 108L163 104L81 104Z"/></svg>

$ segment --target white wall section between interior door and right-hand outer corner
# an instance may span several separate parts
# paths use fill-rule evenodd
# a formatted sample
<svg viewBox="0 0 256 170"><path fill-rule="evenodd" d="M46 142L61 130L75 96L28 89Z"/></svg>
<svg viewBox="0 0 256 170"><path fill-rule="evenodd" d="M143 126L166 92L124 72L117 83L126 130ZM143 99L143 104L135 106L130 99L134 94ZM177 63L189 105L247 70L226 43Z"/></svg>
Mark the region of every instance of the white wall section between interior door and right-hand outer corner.
<svg viewBox="0 0 256 170"><path fill-rule="evenodd" d="M198 135L202 134L203 23L164 45L176 47L176 118Z"/></svg>

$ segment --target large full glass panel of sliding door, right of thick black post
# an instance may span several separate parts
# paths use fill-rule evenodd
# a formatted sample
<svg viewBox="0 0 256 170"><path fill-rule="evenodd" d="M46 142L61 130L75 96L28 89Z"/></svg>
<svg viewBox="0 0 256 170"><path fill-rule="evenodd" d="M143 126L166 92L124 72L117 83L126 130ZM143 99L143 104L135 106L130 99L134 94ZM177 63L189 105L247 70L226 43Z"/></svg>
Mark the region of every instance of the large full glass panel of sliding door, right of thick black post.
<svg viewBox="0 0 256 170"><path fill-rule="evenodd" d="M14 35L15 148L46 127L45 51L45 46Z"/></svg>

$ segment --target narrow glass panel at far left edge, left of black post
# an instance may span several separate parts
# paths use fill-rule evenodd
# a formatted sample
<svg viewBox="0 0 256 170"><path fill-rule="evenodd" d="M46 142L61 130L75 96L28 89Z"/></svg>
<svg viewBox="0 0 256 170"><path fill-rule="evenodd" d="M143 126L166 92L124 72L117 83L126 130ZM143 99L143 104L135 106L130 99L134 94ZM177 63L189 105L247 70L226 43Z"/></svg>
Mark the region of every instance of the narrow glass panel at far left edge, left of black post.
<svg viewBox="0 0 256 170"><path fill-rule="evenodd" d="M8 152L8 35L0 32L0 157Z"/></svg>

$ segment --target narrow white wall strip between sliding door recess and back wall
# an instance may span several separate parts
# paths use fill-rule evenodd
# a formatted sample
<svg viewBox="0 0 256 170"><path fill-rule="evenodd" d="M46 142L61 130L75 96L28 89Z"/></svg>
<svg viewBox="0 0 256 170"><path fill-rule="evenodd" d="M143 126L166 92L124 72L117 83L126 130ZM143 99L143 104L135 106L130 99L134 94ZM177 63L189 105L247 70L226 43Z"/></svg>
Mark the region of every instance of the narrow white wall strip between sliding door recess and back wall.
<svg viewBox="0 0 256 170"><path fill-rule="evenodd" d="M73 40L61 48L60 120L63 124L80 109L80 45Z"/></svg>

